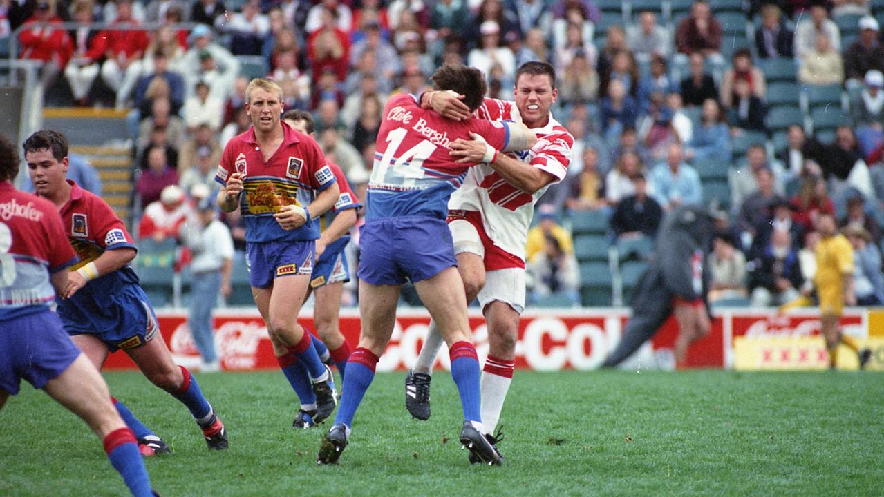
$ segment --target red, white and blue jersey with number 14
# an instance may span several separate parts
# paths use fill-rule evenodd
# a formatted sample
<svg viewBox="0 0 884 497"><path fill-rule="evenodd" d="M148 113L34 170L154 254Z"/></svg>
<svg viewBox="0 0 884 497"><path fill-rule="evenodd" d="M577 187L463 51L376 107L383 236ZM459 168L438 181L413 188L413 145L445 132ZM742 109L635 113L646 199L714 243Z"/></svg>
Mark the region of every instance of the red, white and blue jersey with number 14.
<svg viewBox="0 0 884 497"><path fill-rule="evenodd" d="M476 165L456 163L448 152L455 139L471 139L471 132L498 150L509 142L507 123L475 117L452 121L421 109L410 94L387 101L365 202L366 222L404 215L445 219L449 197Z"/></svg>

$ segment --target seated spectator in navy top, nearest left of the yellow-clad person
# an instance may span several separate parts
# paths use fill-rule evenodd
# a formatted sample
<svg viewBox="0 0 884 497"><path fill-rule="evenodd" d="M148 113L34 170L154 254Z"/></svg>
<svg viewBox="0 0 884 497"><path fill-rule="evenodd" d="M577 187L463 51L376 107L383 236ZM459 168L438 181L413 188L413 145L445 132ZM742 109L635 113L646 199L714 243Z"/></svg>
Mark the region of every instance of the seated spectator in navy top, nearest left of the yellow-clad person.
<svg viewBox="0 0 884 497"><path fill-rule="evenodd" d="M752 307L789 303L799 296L803 283L801 263L789 231L774 230L764 250L751 264Z"/></svg>

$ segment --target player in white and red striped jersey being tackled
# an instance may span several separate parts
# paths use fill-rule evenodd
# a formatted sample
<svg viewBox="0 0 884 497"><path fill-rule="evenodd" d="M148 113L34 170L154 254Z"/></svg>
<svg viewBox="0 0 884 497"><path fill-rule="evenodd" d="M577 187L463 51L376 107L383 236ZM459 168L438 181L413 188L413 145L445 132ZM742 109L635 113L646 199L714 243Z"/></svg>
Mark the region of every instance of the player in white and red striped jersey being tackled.
<svg viewBox="0 0 884 497"><path fill-rule="evenodd" d="M470 169L448 207L458 269L467 298L478 297L488 324L489 355L482 374L482 420L486 438L493 436L507 389L513 378L519 315L525 305L525 242L534 204L546 188L565 177L574 138L550 113L556 100L555 72L550 64L529 62L516 72L515 102L485 99L475 116L492 121L514 120L537 134L524 152L499 154L492 162ZM432 92L422 95L425 107L453 118L469 117L456 98ZM491 143L455 142L452 154L475 160ZM435 322L415 368L406 379L406 406L418 419L430 417L430 374L441 337Z"/></svg>

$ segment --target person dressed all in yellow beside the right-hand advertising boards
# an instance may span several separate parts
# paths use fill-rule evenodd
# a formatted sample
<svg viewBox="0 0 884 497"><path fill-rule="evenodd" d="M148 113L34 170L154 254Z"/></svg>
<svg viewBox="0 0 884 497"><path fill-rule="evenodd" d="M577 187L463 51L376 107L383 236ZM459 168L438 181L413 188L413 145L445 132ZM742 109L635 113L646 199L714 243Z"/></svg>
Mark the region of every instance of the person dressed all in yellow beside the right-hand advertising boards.
<svg viewBox="0 0 884 497"><path fill-rule="evenodd" d="M844 336L838 328L838 320L844 305L856 305L853 292L853 247L846 237L838 233L834 216L820 213L817 218L817 231L822 236L816 247L817 273L813 277L819 297L820 326L826 339L829 353L829 367L838 365L838 345L843 343L857 352L859 367L872 357L872 351L859 350L856 341Z"/></svg>

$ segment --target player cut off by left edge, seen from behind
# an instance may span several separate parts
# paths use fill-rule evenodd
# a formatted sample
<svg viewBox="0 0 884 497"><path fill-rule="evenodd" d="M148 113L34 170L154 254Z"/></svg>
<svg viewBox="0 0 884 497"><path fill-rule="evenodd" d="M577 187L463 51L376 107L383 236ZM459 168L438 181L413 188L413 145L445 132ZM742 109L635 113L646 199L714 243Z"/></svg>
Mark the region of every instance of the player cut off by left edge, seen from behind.
<svg viewBox="0 0 884 497"><path fill-rule="evenodd" d="M50 303L76 253L56 208L19 192L19 154L0 136L0 409L22 378L83 418L133 495L150 497L135 435L110 403L102 375L65 334Z"/></svg>

